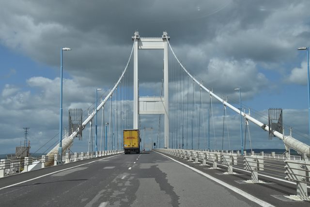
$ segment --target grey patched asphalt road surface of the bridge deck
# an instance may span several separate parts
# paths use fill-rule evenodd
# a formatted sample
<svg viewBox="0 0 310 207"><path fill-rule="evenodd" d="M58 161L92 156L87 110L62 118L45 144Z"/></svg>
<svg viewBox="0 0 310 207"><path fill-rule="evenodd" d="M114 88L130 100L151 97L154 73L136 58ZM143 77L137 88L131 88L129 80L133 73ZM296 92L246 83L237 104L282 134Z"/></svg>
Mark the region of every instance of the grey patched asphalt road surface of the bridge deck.
<svg viewBox="0 0 310 207"><path fill-rule="evenodd" d="M225 170L211 170L179 160L274 206L309 205L309 202L284 202L271 196L295 194L293 185L239 184L235 180L246 180L249 176L221 175ZM156 152L83 160L1 178L0 196L0 206L23 207L246 207L263 204Z"/></svg>

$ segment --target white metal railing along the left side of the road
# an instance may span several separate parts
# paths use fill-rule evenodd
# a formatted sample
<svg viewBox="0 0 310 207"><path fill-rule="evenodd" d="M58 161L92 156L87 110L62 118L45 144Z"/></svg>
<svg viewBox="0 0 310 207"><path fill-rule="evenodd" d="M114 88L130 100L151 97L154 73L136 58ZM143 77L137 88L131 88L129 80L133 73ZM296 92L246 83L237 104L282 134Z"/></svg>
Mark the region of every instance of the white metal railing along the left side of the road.
<svg viewBox="0 0 310 207"><path fill-rule="evenodd" d="M49 166L55 166L60 164L67 164L70 162L76 162L84 159L93 159L97 157L103 157L108 155L115 155L124 153L124 150L107 150L98 152L81 152L81 153L66 153L62 155L62 161L60 162L59 155L41 157L26 157L25 159L0 159L0 178L12 175L16 173L24 173L31 170L38 170Z"/></svg>

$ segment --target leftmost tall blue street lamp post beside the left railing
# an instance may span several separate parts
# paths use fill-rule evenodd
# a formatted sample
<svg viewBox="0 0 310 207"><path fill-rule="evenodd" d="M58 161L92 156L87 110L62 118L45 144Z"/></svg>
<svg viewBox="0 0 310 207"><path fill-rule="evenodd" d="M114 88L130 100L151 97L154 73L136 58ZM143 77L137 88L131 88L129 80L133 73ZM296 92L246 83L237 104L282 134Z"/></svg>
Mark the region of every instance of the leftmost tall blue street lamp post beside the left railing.
<svg viewBox="0 0 310 207"><path fill-rule="evenodd" d="M62 50L71 50L70 48L61 48L60 51L60 110L59 110L59 161L62 162Z"/></svg>

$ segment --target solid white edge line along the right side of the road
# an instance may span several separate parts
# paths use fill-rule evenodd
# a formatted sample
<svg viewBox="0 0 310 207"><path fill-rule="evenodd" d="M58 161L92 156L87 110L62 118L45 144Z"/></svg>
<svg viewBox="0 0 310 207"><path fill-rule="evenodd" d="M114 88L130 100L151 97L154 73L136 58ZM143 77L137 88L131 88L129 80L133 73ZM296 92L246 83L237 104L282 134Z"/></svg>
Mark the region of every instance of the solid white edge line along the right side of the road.
<svg viewBox="0 0 310 207"><path fill-rule="evenodd" d="M155 151L155 152L156 152L156 151ZM250 200L250 201L253 201L254 203L257 203L258 205L260 205L260 206L262 206L262 207L274 207L273 205L271 205L271 204L269 204L269 203L267 203L267 202L265 202L265 201L263 201L263 200L261 200L261 199L259 199L259 198L256 198L255 196L253 196L253 195L251 195L251 194L248 194L248 193L245 192L245 191L242 191L242 190L240 190L240 189L238 189L238 188L236 188L236 187L234 187L234 186L232 186L232 185L230 185L230 184L228 184L228 183L225 183L225 182L223 182L223 181L221 181L221 180L219 180L219 179L217 179L217 178L215 178L215 177L213 177L213 176L211 176L211 175L208 175L208 174L206 174L206 173L203 173L202 171L197 170L196 168L193 168L193 167L191 167L191 166L189 166L189 165L187 165L187 164L184 164L183 162L180 162L180 161L178 161L178 160L176 160L176 159L173 159L173 158L171 158L171 157L168 157L167 155L164 155L164 154L162 154L162 153L159 153L159 152L156 152L156 153L158 153L158 154L160 154L160 155L162 155L162 156L165 156L165 157L167 157L167 158L172 159L173 161L175 161L175 162L177 162L177 163L179 163L179 164L181 164L181 165L183 165L183 166L185 166L185 167L187 167L187 168L189 168L189 169L195 171L196 173L199 173L200 175L203 175L203 176L205 176L205 177L207 177L207 178L209 178L209 179L211 179L211 180L217 182L218 184L220 184L220 185L222 185L222 186L224 186L224 187L226 187L226 188L228 188L228 189L230 189L230 190L232 190L232 191L238 193L239 195L242 195L243 197L247 198L247 199Z"/></svg>

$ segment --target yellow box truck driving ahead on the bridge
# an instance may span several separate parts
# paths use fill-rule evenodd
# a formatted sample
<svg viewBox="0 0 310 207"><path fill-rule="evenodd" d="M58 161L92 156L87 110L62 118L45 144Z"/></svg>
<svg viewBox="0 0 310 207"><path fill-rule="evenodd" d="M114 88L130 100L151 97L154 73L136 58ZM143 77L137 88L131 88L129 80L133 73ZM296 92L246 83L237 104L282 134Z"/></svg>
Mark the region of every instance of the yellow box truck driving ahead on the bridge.
<svg viewBox="0 0 310 207"><path fill-rule="evenodd" d="M139 129L124 129L124 152L129 154L131 152L140 153L140 131Z"/></svg>

